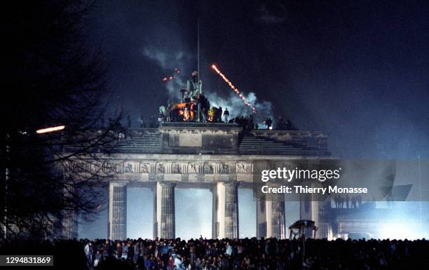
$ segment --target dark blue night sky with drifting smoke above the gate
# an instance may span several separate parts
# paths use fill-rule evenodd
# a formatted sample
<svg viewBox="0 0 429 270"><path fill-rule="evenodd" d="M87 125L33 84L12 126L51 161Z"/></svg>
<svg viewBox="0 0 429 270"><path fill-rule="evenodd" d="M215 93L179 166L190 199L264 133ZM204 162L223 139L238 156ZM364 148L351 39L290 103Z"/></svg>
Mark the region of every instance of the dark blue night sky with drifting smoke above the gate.
<svg viewBox="0 0 429 270"><path fill-rule="evenodd" d="M98 1L88 43L110 63L106 100L133 126L177 100L196 69L198 18L212 104L250 114L216 63L257 97L260 118L329 132L334 156L428 158L428 1ZM180 77L163 83L175 67Z"/></svg>

